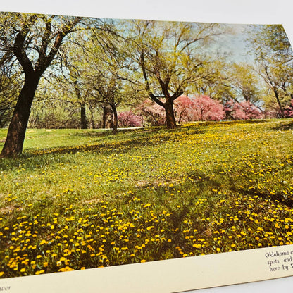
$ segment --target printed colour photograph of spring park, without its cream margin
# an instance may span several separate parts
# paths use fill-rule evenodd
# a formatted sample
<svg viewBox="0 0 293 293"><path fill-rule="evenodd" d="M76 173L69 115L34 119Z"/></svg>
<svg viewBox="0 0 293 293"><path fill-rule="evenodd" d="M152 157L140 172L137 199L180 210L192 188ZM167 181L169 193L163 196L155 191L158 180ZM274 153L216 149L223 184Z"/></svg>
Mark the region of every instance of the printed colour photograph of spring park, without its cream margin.
<svg viewBox="0 0 293 293"><path fill-rule="evenodd" d="M0 277L293 244L282 25L0 13Z"/></svg>

